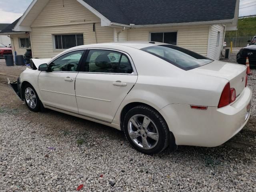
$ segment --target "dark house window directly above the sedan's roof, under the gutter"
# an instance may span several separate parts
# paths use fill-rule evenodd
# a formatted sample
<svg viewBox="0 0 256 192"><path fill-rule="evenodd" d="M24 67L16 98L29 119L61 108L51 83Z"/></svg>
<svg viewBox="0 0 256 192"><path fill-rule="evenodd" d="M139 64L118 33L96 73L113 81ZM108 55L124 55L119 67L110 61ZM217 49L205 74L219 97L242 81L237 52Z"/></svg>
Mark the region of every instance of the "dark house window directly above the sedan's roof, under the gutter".
<svg viewBox="0 0 256 192"><path fill-rule="evenodd" d="M177 45L177 32L150 33L150 41Z"/></svg>

